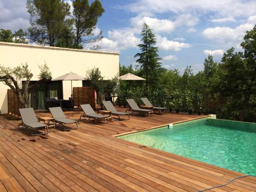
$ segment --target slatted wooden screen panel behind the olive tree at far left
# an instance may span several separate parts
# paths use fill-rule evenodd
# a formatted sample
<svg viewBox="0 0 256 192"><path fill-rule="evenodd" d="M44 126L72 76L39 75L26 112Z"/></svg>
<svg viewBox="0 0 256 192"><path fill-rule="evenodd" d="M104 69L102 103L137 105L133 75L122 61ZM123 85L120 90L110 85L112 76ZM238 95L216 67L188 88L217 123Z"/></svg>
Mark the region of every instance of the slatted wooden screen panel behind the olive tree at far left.
<svg viewBox="0 0 256 192"><path fill-rule="evenodd" d="M20 116L18 109L21 105L18 100L18 96L11 90L7 90L7 102L8 102L8 114L14 116Z"/></svg>

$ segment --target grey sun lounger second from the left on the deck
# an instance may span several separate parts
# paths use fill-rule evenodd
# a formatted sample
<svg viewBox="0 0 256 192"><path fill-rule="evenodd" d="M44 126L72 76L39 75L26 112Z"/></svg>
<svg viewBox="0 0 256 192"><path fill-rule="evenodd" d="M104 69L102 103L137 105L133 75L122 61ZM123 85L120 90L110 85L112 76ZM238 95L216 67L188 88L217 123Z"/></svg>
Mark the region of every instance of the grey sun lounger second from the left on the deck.
<svg viewBox="0 0 256 192"><path fill-rule="evenodd" d="M54 118L54 121L61 124L64 131L77 129L77 128L71 128L71 127L69 127L68 129L65 129L65 126L63 124L76 123L76 126L78 127L77 121L73 120L73 119L66 118L66 115L63 113L63 111L61 110L61 108L59 106L57 106L56 108L49 108L49 110L52 114L52 117Z"/></svg>

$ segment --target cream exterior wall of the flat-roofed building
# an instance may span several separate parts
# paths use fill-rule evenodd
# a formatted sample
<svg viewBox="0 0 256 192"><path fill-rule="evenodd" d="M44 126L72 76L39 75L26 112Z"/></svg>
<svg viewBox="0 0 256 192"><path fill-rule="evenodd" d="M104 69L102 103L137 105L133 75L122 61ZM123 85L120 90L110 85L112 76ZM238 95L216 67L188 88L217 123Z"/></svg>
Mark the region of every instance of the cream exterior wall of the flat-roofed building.
<svg viewBox="0 0 256 192"><path fill-rule="evenodd" d="M0 65L13 68L25 62L34 74L31 80L38 80L37 75L40 72L38 65L44 62L48 64L53 78L69 72L85 76L86 71L93 67L99 68L105 79L119 75L119 53L0 42ZM63 99L68 99L71 95L71 81L62 82ZM72 84L73 87L82 87L82 81L72 81ZM9 87L0 82L2 114L7 112L7 104L4 103L7 89Z"/></svg>

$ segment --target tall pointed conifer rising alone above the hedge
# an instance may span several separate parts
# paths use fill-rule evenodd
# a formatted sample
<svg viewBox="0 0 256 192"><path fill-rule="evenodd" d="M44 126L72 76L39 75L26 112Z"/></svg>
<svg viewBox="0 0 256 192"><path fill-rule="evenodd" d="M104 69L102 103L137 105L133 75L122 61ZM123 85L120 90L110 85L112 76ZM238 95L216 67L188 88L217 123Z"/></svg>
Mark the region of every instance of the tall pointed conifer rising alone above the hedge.
<svg viewBox="0 0 256 192"><path fill-rule="evenodd" d="M136 62L141 64L140 68L145 76L147 89L148 86L153 86L154 82L158 80L157 72L161 67L161 58L158 55L158 48L154 47L156 36L150 26L144 23L140 35L143 44L139 44L138 47L141 53L137 53L134 57L138 57Z"/></svg>

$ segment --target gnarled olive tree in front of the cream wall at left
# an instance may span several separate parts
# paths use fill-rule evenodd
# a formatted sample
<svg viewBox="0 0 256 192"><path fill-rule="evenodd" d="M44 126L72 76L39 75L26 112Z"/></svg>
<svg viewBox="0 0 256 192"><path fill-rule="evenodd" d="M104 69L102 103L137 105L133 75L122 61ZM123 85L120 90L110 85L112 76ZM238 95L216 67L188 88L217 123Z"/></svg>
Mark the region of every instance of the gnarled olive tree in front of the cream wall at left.
<svg viewBox="0 0 256 192"><path fill-rule="evenodd" d="M29 82L33 74L29 70L28 63L21 64L15 68L0 65L0 80L2 80L17 95L19 102L23 108L27 108L29 104L29 91L37 87L40 83L51 80L51 72L45 63L40 67L39 81L29 86ZM50 78L50 79L49 79Z"/></svg>

